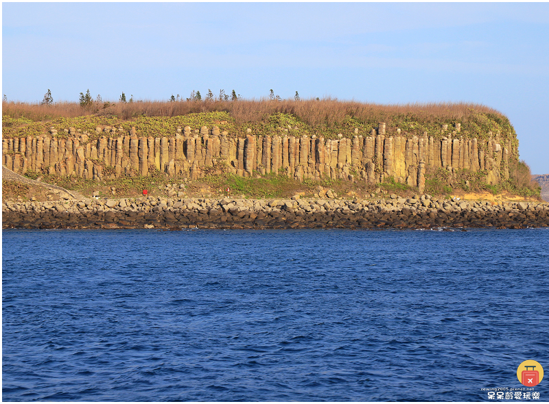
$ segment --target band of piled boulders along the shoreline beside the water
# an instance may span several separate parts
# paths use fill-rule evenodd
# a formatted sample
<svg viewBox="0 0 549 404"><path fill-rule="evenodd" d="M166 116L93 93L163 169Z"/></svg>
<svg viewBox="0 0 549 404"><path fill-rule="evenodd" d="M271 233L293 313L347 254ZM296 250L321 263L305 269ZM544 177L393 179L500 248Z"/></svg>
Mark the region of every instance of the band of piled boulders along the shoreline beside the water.
<svg viewBox="0 0 549 404"><path fill-rule="evenodd" d="M3 228L295 229L547 227L549 203L448 201L417 195L376 201L300 199L85 199L2 204Z"/></svg>

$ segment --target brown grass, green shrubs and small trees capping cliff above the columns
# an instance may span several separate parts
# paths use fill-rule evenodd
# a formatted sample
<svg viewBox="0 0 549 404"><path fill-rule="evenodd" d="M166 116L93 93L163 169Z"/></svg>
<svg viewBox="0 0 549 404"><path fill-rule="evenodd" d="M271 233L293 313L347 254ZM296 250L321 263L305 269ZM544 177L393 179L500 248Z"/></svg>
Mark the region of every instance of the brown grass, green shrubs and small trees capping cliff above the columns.
<svg viewBox="0 0 549 404"><path fill-rule="evenodd" d="M133 97L132 97L133 98ZM271 92L270 99L244 100L233 90L231 100L220 90L214 97L208 90L207 99L202 101L200 92L192 92L187 101L140 101L125 102L123 93L117 103L93 101L89 90L80 93L79 103L52 103L47 105L3 102L3 128L5 121L27 118L43 125L26 128L8 127L5 137L36 136L45 134L50 126L71 125L82 131L95 131L96 125L121 125L124 129L135 126L139 136L170 136L177 126L189 125L198 129L202 125L218 125L232 135L242 135L250 128L261 135L323 136L337 138L338 134L351 138L358 134L369 136L371 129L379 122L386 123L387 136L395 136L401 129L401 136L428 136L441 138L445 133L443 124L452 131L460 123L458 136L464 138L486 138L488 132L499 134L502 140L516 143L516 134L500 112L483 105L456 104L408 104L377 105L333 99L301 100L296 92L294 99L280 100ZM220 118L215 118L220 116ZM225 124L215 121L226 121ZM161 122L161 125L159 125ZM223 126L224 125L224 126ZM288 127L290 125L291 128ZM57 128L56 128L57 129ZM58 129L59 130L59 129Z"/></svg>

